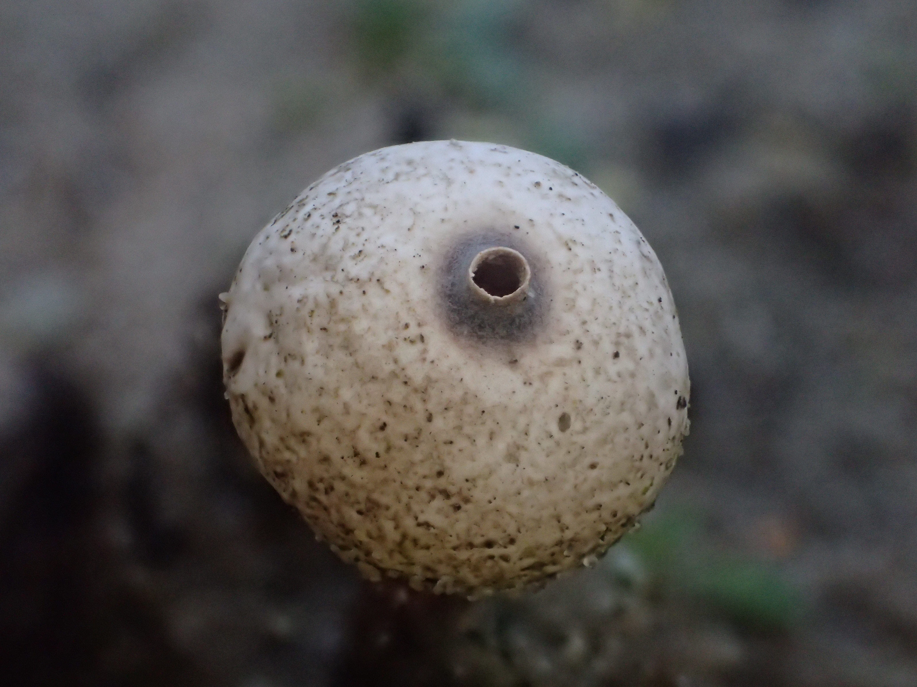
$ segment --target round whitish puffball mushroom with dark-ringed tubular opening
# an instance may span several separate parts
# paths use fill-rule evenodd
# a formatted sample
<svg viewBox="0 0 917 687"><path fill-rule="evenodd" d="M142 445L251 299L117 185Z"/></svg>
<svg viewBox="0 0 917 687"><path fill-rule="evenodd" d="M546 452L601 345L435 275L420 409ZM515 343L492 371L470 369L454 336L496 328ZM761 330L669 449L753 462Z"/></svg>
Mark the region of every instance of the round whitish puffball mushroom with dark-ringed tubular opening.
<svg viewBox="0 0 917 687"><path fill-rule="evenodd" d="M513 147L345 162L221 300L239 435L370 580L482 595L589 565L688 432L657 256L590 181Z"/></svg>

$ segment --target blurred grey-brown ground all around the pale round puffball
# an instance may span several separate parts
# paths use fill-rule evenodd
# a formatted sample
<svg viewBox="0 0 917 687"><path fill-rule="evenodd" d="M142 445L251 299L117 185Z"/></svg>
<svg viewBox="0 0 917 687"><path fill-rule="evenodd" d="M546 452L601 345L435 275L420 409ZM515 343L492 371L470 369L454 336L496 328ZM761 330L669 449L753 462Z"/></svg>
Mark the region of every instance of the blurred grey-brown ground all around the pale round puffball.
<svg viewBox="0 0 917 687"><path fill-rule="evenodd" d="M558 158L679 303L686 453L589 571L359 583L249 466L216 294L312 180ZM0 673L17 685L917 685L917 5L0 3Z"/></svg>

